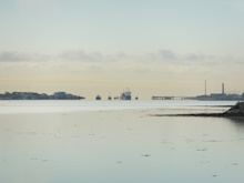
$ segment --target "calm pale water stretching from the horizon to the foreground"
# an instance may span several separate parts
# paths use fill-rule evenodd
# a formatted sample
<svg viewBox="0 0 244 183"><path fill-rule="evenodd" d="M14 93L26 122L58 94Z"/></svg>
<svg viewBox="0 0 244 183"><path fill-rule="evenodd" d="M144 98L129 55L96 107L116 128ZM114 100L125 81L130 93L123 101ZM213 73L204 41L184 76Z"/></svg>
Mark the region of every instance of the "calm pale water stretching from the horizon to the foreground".
<svg viewBox="0 0 244 183"><path fill-rule="evenodd" d="M235 102L0 101L0 182L244 182Z"/></svg>

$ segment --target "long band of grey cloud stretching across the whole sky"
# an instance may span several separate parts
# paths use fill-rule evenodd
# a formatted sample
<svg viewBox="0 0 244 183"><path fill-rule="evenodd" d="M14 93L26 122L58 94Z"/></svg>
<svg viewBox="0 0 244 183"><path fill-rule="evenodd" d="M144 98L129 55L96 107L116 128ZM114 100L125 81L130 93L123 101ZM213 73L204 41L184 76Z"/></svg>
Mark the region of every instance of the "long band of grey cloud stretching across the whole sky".
<svg viewBox="0 0 244 183"><path fill-rule="evenodd" d="M102 54L100 52L85 52L83 50L63 51L59 54L42 54L42 53L23 53L23 52L0 52L0 62L72 62L78 63L95 63L99 64L125 64L139 65L150 64L157 65L184 65L185 67L210 67L210 65L240 65L244 64L244 58L233 55L213 55L204 53L176 53L172 50L157 50L144 54L126 54L123 52L115 54Z"/></svg>

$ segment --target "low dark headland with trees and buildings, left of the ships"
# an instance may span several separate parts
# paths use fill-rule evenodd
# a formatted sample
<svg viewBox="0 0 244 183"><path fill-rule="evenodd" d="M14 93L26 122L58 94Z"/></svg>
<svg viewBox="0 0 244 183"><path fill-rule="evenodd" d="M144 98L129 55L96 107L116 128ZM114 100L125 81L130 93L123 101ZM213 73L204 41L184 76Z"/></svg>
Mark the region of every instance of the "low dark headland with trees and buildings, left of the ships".
<svg viewBox="0 0 244 183"><path fill-rule="evenodd" d="M65 92L55 92L51 95L37 92L6 92L0 94L0 100L81 100L84 96L73 95Z"/></svg>

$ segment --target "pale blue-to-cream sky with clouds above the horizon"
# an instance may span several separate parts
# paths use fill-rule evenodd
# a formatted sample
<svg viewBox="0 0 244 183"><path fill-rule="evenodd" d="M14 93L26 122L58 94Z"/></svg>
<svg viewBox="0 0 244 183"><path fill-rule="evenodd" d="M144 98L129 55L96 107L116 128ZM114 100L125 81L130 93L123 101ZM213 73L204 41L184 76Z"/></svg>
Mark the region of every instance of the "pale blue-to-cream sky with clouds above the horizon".
<svg viewBox="0 0 244 183"><path fill-rule="evenodd" d="M0 93L244 92L243 0L0 0Z"/></svg>

